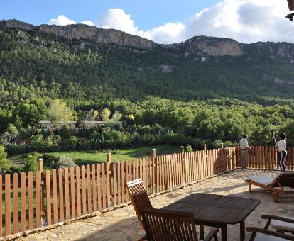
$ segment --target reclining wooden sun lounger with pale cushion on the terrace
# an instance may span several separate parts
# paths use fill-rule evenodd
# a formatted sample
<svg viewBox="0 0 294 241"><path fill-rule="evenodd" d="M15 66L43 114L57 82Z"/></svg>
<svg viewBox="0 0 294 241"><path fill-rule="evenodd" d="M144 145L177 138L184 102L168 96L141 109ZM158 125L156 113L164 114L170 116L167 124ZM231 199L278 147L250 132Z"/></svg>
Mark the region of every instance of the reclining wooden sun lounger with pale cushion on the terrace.
<svg viewBox="0 0 294 241"><path fill-rule="evenodd" d="M294 196L278 196L278 194L294 194L294 191L285 191L283 189L285 186L294 189L294 172L281 172L276 177L249 176L249 179L245 180L245 182L249 184L249 192L252 191L251 185L259 186L268 191L272 191L273 201L275 203L278 203L279 198L294 198Z"/></svg>

